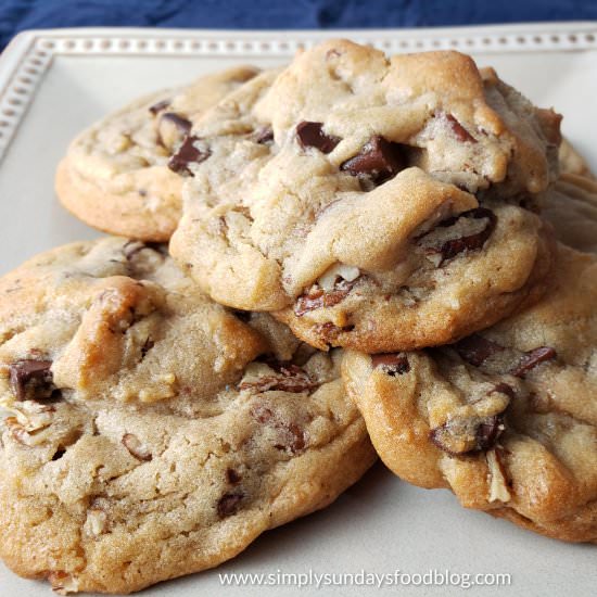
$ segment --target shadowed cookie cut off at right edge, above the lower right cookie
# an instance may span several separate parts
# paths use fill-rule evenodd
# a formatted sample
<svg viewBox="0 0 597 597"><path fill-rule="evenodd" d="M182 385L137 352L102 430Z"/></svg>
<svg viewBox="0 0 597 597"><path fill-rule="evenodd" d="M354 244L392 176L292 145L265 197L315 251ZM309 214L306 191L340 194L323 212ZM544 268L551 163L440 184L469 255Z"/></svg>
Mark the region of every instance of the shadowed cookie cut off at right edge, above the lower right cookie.
<svg viewBox="0 0 597 597"><path fill-rule="evenodd" d="M546 194L543 215L555 228L558 240L589 253L597 253L597 181L575 174L562 174Z"/></svg>

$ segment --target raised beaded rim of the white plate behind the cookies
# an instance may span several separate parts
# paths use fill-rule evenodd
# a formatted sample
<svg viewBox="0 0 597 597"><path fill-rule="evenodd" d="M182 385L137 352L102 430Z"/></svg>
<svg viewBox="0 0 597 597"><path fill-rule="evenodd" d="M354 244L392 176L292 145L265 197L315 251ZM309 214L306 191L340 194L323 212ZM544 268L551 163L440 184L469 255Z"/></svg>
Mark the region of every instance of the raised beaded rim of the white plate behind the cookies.
<svg viewBox="0 0 597 597"><path fill-rule="evenodd" d="M40 29L17 35L0 56L0 162L56 55L291 58L331 37L351 37L389 53L597 50L597 22L437 27L433 29L204 30Z"/></svg>

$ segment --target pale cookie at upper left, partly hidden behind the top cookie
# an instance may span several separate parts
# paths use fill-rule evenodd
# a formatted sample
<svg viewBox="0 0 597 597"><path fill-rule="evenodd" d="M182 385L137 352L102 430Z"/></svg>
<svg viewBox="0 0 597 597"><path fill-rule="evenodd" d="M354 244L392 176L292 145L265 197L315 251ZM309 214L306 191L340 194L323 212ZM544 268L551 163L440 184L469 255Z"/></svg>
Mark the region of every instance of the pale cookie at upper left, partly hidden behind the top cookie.
<svg viewBox="0 0 597 597"><path fill-rule="evenodd" d="M180 217L180 179L167 168L191 120L253 77L250 66L200 77L142 98L82 131L56 172L64 207L86 224L167 241Z"/></svg>

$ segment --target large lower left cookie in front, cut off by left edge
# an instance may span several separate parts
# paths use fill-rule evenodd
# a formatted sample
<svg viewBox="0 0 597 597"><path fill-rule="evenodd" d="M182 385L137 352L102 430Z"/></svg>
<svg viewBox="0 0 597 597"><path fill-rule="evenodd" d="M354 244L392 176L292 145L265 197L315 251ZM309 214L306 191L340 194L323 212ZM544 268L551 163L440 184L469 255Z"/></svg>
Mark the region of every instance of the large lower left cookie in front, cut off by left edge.
<svg viewBox="0 0 597 597"><path fill-rule="evenodd" d="M129 593L236 556L374 460L340 352L211 302L118 238L0 280L0 556L61 592Z"/></svg>

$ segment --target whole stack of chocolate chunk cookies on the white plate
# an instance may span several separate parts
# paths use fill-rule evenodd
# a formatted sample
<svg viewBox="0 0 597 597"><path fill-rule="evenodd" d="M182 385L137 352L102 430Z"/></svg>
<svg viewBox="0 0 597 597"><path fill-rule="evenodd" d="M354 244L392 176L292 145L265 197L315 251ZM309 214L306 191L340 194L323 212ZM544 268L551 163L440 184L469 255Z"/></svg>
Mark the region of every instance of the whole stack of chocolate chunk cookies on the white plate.
<svg viewBox="0 0 597 597"><path fill-rule="evenodd" d="M340 40L84 131L58 194L118 237L0 280L2 558L137 590L376 452L596 542L597 258L568 245L597 246L597 185L568 145L558 179L559 124L462 54Z"/></svg>

